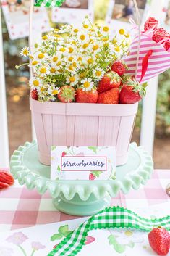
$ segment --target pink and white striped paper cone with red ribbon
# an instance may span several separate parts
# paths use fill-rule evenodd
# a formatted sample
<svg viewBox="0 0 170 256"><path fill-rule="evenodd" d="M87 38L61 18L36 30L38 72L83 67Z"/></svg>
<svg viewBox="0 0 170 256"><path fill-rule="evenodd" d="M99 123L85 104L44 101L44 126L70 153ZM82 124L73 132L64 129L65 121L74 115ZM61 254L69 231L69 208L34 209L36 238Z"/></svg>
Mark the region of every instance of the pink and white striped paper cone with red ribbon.
<svg viewBox="0 0 170 256"><path fill-rule="evenodd" d="M130 52L124 57L129 70L128 75L135 75L137 63L137 49L139 38L135 37L131 44ZM157 44L145 33L141 33L140 54L137 68L137 81L143 83L163 73L170 68L170 52L163 45Z"/></svg>

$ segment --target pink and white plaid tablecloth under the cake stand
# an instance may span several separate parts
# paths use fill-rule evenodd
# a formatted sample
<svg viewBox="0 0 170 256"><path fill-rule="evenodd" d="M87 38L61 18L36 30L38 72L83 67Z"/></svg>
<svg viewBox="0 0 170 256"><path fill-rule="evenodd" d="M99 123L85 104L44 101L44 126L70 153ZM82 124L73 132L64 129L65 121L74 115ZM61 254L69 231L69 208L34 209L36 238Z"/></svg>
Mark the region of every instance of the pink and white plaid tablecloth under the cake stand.
<svg viewBox="0 0 170 256"><path fill-rule="evenodd" d="M148 207L169 202L165 189L170 183L170 170L155 170L145 186L129 194L119 193L111 205L123 207ZM37 191L28 191L17 182L9 189L0 191L0 231L25 228L45 223L77 218L56 210L48 192L42 197Z"/></svg>

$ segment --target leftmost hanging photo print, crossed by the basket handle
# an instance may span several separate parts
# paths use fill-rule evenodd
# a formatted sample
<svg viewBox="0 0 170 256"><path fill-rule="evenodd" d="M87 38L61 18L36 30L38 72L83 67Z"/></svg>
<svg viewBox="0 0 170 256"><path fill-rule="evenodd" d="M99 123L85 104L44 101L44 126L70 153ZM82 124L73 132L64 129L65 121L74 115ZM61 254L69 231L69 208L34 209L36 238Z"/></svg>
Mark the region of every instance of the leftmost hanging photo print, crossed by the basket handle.
<svg viewBox="0 0 170 256"><path fill-rule="evenodd" d="M1 0L1 7L10 39L28 36L29 0ZM43 33L50 30L48 15L45 8L34 7L33 31Z"/></svg>

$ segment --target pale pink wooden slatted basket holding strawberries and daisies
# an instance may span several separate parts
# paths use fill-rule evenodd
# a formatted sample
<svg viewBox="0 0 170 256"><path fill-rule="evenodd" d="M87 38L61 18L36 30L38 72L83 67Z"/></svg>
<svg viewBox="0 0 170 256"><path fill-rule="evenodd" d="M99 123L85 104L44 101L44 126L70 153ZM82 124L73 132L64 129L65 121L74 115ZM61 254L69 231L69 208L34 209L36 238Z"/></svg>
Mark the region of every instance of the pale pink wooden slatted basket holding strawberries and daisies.
<svg viewBox="0 0 170 256"><path fill-rule="evenodd" d="M50 165L51 145L116 146L116 165L124 165L137 107L137 103L41 103L30 98L40 162Z"/></svg>

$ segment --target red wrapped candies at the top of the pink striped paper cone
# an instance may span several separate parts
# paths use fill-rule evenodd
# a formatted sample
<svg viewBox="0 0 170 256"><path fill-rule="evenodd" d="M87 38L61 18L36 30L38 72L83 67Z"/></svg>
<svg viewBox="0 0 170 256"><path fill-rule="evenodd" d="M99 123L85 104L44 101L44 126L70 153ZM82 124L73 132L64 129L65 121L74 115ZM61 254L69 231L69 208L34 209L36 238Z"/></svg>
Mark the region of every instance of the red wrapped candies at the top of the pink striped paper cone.
<svg viewBox="0 0 170 256"><path fill-rule="evenodd" d="M163 45L166 51L170 49L170 34L164 28L158 28L158 20L154 17L149 17L145 22L144 30L152 31L152 39L158 44Z"/></svg>

